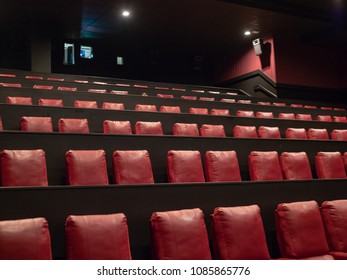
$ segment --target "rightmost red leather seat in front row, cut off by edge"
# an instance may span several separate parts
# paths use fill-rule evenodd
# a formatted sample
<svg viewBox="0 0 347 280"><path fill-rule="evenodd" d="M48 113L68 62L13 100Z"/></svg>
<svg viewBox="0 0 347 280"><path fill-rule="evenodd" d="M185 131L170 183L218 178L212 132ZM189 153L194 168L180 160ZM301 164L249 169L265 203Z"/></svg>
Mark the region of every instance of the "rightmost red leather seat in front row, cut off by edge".
<svg viewBox="0 0 347 280"><path fill-rule="evenodd" d="M321 214L330 254L337 260L347 260L347 200L324 201Z"/></svg>

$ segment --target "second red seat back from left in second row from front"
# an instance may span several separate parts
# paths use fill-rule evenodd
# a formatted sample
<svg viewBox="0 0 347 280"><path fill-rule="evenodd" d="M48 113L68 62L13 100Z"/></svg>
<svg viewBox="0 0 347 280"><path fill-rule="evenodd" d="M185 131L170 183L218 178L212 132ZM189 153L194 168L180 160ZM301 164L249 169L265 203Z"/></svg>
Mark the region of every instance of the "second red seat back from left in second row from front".
<svg viewBox="0 0 347 280"><path fill-rule="evenodd" d="M69 150L65 159L68 185L108 185L104 150Z"/></svg>

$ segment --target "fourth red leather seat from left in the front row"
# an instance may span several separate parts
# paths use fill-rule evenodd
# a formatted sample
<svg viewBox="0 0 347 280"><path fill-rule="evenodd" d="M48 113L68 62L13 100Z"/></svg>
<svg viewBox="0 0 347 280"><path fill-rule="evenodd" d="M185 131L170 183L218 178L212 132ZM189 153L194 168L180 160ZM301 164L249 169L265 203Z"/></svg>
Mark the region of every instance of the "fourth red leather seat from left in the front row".
<svg viewBox="0 0 347 280"><path fill-rule="evenodd" d="M215 208L211 221L218 259L270 259L258 205Z"/></svg>

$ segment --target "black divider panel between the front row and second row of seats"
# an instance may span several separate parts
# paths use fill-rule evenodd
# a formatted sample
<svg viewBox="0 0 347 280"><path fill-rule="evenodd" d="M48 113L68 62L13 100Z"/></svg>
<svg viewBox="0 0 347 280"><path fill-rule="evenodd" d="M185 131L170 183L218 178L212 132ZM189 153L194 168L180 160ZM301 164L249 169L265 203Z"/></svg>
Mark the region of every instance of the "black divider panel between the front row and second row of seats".
<svg viewBox="0 0 347 280"><path fill-rule="evenodd" d="M155 211L201 208L209 236L209 215L218 206L258 204L268 247L279 257L274 210L278 203L346 199L347 180L273 181L219 184L156 184L106 187L0 188L0 219L45 217L54 259L64 259L64 224L68 215L123 212L127 216L134 259L150 259L148 220Z"/></svg>

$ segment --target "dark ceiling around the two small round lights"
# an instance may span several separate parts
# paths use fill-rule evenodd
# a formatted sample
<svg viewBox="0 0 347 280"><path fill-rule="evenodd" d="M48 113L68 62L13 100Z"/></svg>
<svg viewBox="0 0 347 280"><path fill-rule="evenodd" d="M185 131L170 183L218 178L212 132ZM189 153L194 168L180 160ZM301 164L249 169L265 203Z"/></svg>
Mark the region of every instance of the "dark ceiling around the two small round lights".
<svg viewBox="0 0 347 280"><path fill-rule="evenodd" d="M343 0L0 0L0 27L53 38L126 46L232 49L268 33L298 33L310 44L347 43ZM129 9L131 16L121 16ZM256 31L251 38L246 29Z"/></svg>

